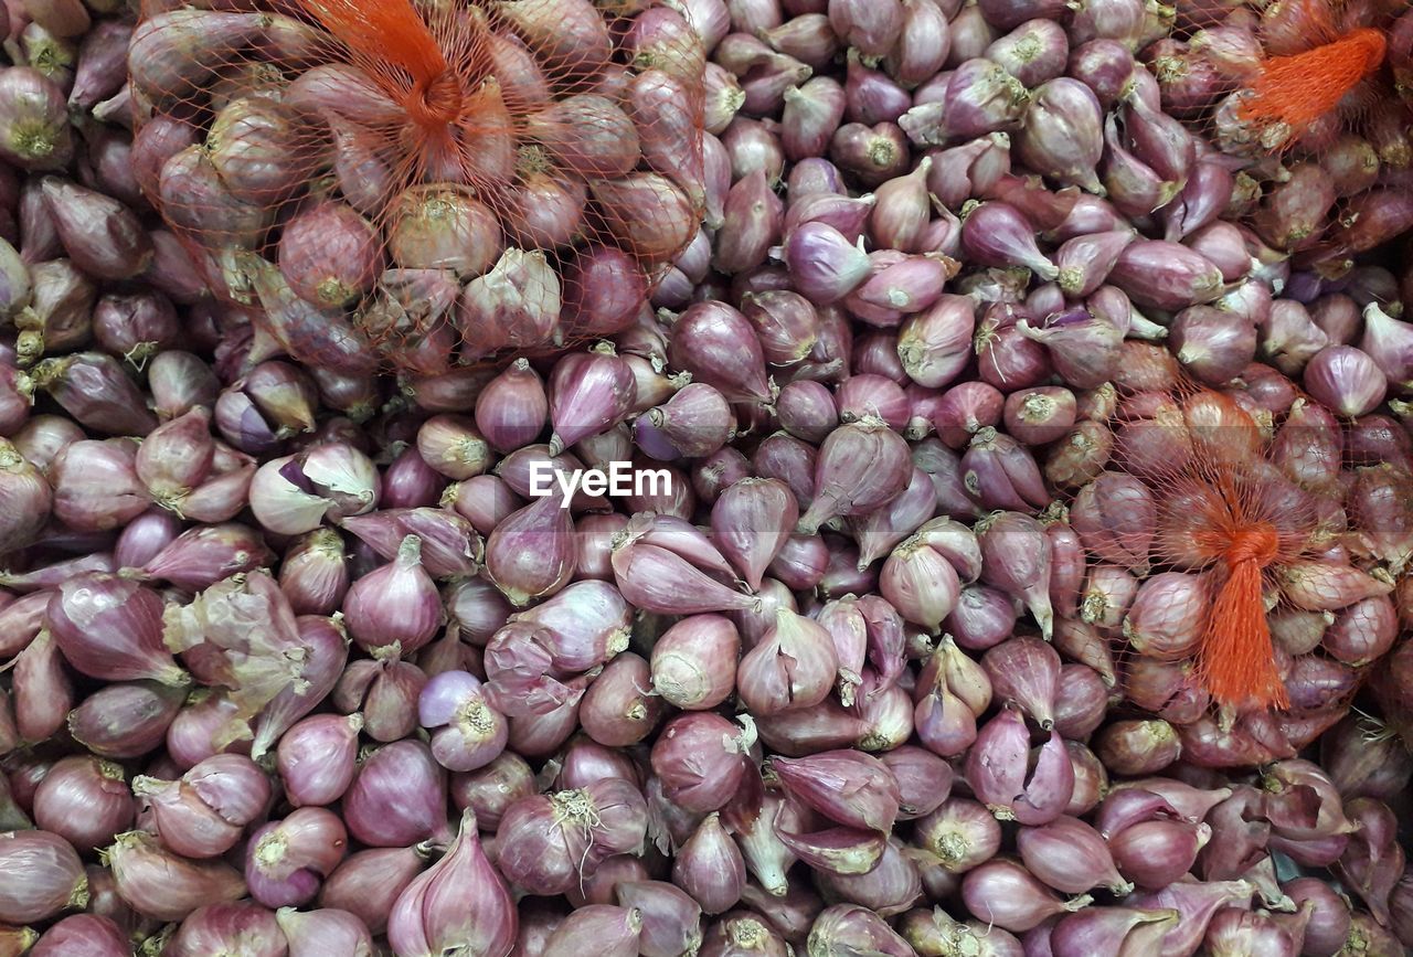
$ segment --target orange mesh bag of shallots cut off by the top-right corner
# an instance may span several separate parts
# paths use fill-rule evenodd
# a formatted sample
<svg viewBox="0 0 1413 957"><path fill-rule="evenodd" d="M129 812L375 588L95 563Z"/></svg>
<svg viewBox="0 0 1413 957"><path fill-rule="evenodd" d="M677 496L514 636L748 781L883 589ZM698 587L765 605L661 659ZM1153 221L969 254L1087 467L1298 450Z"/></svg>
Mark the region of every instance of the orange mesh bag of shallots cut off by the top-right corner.
<svg viewBox="0 0 1413 957"><path fill-rule="evenodd" d="M1340 280L1413 226L1407 0L1180 0L1143 52L1163 109L1226 154L1226 218Z"/></svg>

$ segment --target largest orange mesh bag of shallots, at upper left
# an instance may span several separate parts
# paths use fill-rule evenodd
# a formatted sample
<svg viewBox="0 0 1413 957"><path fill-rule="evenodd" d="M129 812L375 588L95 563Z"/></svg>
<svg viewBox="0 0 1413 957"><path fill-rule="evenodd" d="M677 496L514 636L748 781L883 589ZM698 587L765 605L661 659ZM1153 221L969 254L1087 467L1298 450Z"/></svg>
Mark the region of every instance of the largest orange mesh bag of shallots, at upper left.
<svg viewBox="0 0 1413 957"><path fill-rule="evenodd" d="M702 69L657 0L144 0L144 192L257 348L435 375L620 331L697 233Z"/></svg>

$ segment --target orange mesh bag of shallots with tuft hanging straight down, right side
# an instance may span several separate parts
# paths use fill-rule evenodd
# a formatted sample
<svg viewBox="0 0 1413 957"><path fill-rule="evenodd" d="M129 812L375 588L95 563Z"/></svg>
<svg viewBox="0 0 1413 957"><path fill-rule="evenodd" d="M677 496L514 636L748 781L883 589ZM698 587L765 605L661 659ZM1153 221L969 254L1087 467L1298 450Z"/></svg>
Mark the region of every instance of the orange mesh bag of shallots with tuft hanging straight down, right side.
<svg viewBox="0 0 1413 957"><path fill-rule="evenodd" d="M1129 700L1173 708L1174 724L1210 705L1232 717L1347 704L1368 662L1342 646L1331 659L1321 633L1345 609L1369 613L1359 602L1382 613L1393 588L1388 553L1349 527L1347 425L1308 397L1273 417L1161 359L1161 376L1119 399L1106 469L1070 500L1088 577L1067 629L1108 638ZM1406 475L1392 483L1413 495ZM1293 638L1303 622L1320 623L1313 642Z"/></svg>

